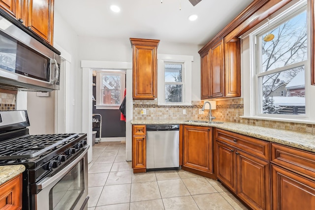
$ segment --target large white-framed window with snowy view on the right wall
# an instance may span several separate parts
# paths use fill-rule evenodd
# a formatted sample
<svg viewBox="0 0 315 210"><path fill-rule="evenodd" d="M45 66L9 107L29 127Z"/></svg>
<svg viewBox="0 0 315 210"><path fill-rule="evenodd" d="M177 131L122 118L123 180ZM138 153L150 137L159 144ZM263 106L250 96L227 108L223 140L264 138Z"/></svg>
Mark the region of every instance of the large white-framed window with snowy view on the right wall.
<svg viewBox="0 0 315 210"><path fill-rule="evenodd" d="M300 0L243 35L245 117L314 118L307 19L307 0Z"/></svg>

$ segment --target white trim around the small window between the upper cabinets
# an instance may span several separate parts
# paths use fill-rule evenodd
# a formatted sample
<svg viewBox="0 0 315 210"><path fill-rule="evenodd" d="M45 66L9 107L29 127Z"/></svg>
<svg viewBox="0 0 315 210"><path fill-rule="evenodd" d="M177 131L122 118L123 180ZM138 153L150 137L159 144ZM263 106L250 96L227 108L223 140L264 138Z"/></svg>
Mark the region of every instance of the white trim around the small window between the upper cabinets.
<svg viewBox="0 0 315 210"><path fill-rule="evenodd" d="M193 56L158 54L158 105L160 106L191 106L191 62ZM181 62L183 67L183 102L165 103L164 62Z"/></svg>

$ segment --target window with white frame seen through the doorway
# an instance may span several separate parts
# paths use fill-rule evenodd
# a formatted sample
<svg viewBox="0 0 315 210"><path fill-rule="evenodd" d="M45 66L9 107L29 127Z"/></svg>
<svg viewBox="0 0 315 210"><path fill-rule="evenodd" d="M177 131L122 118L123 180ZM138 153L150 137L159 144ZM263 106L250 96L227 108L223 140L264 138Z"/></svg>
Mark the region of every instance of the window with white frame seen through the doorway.
<svg viewBox="0 0 315 210"><path fill-rule="evenodd" d="M97 71L96 107L100 109L118 109L124 99L125 81L125 71Z"/></svg>

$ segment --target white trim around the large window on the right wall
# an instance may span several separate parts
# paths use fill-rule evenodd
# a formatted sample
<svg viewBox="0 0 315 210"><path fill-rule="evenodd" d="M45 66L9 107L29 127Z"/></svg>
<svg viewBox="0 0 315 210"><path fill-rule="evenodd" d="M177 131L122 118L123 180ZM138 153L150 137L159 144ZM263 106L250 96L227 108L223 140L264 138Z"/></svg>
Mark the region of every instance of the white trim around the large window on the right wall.
<svg viewBox="0 0 315 210"><path fill-rule="evenodd" d="M289 13L292 13L293 10L296 10L297 7L303 4L300 1L298 4L288 7L285 10L285 14L274 14L270 21L270 26L276 24L280 20L283 20L284 16L287 16ZM310 4L308 0L308 21L310 20ZM276 121L286 121L286 122L299 122L299 123L315 123L315 110L311 108L312 104L315 104L315 97L312 97L315 93L315 86L311 85L310 80L310 60L311 60L311 40L310 40L310 24L308 24L308 61L305 65L305 94L307 95L305 106L306 106L306 115L305 116L287 116L287 115L272 115L268 114L257 114L257 87L256 87L256 66L255 66L255 55L251 52L254 52L255 47L255 38L254 36L258 34L258 31L262 30L262 27L268 27L268 23L264 22L260 26L255 27L256 30L250 31L247 34L244 34L242 38L242 75L243 75L243 95L244 95L244 116L241 118L246 119L257 119L257 120L276 120ZM259 30L258 30L258 29Z"/></svg>

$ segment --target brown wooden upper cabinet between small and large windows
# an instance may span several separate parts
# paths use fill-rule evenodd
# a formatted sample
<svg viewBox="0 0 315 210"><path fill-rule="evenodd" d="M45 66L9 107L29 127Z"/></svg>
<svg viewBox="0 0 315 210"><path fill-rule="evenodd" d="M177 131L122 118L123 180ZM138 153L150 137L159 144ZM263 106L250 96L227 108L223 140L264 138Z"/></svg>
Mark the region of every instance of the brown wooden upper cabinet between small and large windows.
<svg viewBox="0 0 315 210"><path fill-rule="evenodd" d="M221 39L201 54L201 99L241 96L239 38Z"/></svg>

